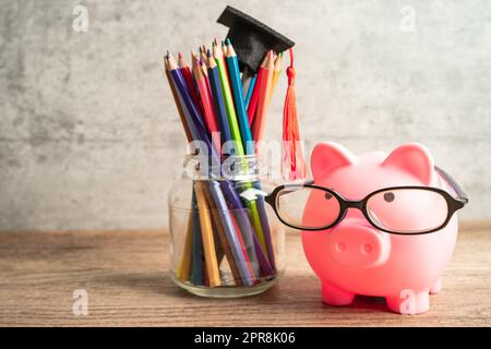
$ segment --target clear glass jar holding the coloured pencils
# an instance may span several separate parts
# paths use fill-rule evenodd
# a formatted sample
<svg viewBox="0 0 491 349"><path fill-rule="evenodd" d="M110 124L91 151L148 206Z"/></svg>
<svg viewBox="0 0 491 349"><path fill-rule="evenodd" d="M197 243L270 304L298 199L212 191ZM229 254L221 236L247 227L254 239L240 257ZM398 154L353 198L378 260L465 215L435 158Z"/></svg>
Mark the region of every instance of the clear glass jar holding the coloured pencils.
<svg viewBox="0 0 491 349"><path fill-rule="evenodd" d="M236 298L271 288L285 267L285 231L264 202L255 156L187 156L171 185L170 275L191 293Z"/></svg>

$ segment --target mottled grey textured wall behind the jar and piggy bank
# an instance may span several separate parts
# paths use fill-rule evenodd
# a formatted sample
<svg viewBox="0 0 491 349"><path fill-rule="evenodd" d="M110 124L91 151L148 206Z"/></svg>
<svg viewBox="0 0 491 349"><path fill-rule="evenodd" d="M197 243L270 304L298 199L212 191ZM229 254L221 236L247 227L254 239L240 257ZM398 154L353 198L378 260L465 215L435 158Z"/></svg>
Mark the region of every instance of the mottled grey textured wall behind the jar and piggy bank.
<svg viewBox="0 0 491 349"><path fill-rule="evenodd" d="M470 193L462 216L491 217L490 1L1 0L0 230L165 226L184 136L161 57L223 38L227 3L297 43L309 149L423 142Z"/></svg>

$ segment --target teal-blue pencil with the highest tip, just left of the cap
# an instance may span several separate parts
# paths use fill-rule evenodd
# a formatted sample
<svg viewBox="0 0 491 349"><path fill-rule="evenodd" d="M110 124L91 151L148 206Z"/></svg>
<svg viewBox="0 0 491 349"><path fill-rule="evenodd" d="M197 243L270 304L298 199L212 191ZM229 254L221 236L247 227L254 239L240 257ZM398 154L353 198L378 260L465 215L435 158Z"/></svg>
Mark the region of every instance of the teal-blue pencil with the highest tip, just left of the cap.
<svg viewBox="0 0 491 349"><path fill-rule="evenodd" d="M236 51L231 46L230 39L227 38L227 61L228 77L230 80L233 101L237 112L237 121L239 122L240 134L242 136L243 149L247 155L254 154L254 145L252 143L251 127L249 125L248 111L243 100L242 81L240 80L239 61Z"/></svg>

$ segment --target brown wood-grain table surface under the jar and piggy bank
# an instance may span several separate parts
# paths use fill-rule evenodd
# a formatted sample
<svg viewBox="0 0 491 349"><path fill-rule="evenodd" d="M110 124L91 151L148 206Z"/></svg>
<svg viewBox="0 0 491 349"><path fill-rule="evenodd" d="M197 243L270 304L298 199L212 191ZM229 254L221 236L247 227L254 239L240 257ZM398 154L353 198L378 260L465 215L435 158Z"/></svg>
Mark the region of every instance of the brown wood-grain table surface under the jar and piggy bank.
<svg viewBox="0 0 491 349"><path fill-rule="evenodd" d="M421 315L398 315L382 299L351 306L321 302L320 282L297 234L287 238L287 270L261 296L191 296L167 272L161 231L0 233L1 326L490 326L491 221L464 222L443 291ZM88 315L74 315L85 289Z"/></svg>

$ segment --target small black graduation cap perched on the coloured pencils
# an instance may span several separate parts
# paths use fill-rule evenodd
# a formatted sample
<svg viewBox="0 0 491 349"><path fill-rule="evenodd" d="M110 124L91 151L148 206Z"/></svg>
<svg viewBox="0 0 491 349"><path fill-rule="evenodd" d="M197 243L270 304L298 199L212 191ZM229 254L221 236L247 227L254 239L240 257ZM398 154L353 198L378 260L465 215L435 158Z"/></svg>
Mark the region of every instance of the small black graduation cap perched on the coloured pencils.
<svg viewBox="0 0 491 349"><path fill-rule="evenodd" d="M232 7L227 7L217 22L230 28L227 37L233 45L242 72L256 72L267 51L283 52L295 45L289 38Z"/></svg>

